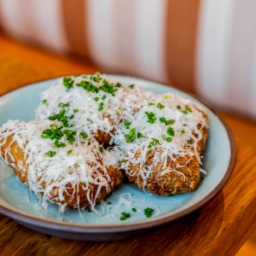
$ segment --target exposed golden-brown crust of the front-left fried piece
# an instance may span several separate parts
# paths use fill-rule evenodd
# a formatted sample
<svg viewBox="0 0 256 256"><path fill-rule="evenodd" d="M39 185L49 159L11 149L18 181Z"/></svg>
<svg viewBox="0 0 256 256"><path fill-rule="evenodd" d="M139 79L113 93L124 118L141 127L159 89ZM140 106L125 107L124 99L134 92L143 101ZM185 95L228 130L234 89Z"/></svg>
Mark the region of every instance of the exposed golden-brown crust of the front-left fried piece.
<svg viewBox="0 0 256 256"><path fill-rule="evenodd" d="M9 163L9 166L14 170L17 177L19 177L20 181L22 183L25 183L27 185L27 174L28 174L28 166L26 166L26 160L24 159L24 152L18 145L18 143L13 142L12 135L7 137L6 143L3 144L1 147L1 154L3 156L3 159L6 160ZM14 160L9 156L9 154L5 154L6 150L9 150L9 152L14 156ZM14 164L12 166L12 164ZM93 166L91 166L93 168ZM101 169L98 169L98 172L102 173ZM104 175L102 173L102 175ZM99 195L96 197L95 202L101 201L104 199L108 194L110 194L114 187L119 185L121 183L123 174L122 172L114 167L114 166L108 166L108 175L111 179L111 182L108 183L109 189L105 187L102 187L100 190ZM42 183L43 189L45 188L45 183ZM55 202L57 204L66 204L67 207L73 208L73 207L86 207L90 205L90 202L88 201L88 197L91 201L96 196L96 191L98 189L98 185L90 183L90 189L84 189L85 184L79 183L75 187L72 186L71 183L67 183L66 189L63 191L62 196L63 200L59 200L59 188L54 187L49 191L49 201ZM89 191L88 191L89 190ZM42 193L43 195L43 193Z"/></svg>

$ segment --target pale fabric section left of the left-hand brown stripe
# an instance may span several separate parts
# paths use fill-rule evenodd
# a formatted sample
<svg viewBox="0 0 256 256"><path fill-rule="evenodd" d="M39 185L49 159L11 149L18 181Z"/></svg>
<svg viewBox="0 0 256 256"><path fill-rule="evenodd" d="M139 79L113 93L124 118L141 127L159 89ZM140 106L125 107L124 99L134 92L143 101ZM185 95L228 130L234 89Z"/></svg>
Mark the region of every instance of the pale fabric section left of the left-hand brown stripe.
<svg viewBox="0 0 256 256"><path fill-rule="evenodd" d="M3 30L57 51L67 50L60 1L0 0Z"/></svg>

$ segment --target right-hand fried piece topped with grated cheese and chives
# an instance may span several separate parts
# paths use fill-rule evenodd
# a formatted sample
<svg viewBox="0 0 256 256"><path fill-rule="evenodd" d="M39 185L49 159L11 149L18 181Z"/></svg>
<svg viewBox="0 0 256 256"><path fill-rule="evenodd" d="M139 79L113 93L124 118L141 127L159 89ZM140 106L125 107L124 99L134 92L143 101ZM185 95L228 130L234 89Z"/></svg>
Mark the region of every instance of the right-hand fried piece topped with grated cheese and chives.
<svg viewBox="0 0 256 256"><path fill-rule="evenodd" d="M196 189L207 140L207 114L199 105L172 93L153 96L135 113L130 129L120 129L121 168L129 182L156 195Z"/></svg>

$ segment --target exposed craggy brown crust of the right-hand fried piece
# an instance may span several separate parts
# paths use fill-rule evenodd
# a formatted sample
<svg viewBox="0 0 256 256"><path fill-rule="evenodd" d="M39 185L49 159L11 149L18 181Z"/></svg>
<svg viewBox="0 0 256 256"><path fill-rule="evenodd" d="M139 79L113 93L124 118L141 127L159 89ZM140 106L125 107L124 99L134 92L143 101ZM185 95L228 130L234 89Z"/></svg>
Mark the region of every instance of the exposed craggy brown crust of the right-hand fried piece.
<svg viewBox="0 0 256 256"><path fill-rule="evenodd" d="M205 149L207 140L207 128L202 129L202 139L197 144L197 153L199 155ZM192 149L191 149L192 150ZM159 152L161 154L161 152ZM141 152L137 151L136 158L140 156ZM147 180L143 180L141 175L141 165L131 165L125 177L130 183L137 185L137 187L148 189L151 193L156 195L175 195L177 193L185 193L196 189L201 180L200 163L194 156L173 156L171 159L167 157L167 169L163 168L163 162L154 163L154 150L149 150L144 161L144 168L151 169Z"/></svg>

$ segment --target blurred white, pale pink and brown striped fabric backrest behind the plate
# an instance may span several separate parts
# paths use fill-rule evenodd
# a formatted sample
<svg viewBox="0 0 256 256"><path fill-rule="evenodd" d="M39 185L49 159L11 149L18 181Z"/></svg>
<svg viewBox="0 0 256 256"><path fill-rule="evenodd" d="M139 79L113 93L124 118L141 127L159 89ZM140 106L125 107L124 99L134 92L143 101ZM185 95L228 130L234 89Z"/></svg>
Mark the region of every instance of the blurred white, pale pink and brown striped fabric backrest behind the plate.
<svg viewBox="0 0 256 256"><path fill-rule="evenodd" d="M0 0L15 38L256 119L255 0Z"/></svg>

